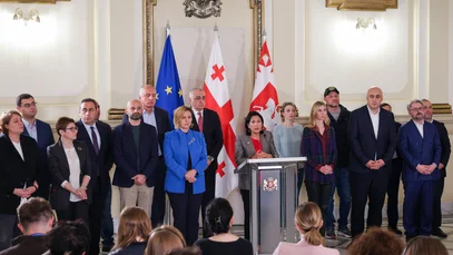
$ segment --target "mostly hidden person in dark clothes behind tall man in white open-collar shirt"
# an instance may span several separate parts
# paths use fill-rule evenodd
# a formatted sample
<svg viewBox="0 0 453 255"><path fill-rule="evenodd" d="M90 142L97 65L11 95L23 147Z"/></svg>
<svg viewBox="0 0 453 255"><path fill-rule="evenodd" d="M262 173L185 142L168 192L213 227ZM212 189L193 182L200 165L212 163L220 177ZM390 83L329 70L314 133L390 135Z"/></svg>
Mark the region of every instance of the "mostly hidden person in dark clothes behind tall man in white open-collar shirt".
<svg viewBox="0 0 453 255"><path fill-rule="evenodd" d="M387 102L381 104L381 108L392 112L392 106ZM401 124L395 121L395 131L398 134ZM398 192L400 192L400 180L401 171L403 170L403 159L401 159L397 150L393 154L392 158L392 174L388 179L387 187L387 220L388 231L395 233L396 235L402 235L403 232L398 229Z"/></svg>

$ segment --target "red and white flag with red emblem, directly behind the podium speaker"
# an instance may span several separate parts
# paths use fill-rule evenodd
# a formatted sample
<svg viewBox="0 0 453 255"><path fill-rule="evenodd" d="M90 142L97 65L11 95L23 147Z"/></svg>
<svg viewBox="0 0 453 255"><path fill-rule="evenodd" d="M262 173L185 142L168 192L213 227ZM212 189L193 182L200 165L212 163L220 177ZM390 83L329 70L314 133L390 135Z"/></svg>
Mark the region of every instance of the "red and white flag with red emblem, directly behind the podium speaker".
<svg viewBox="0 0 453 255"><path fill-rule="evenodd" d="M262 52L259 53L250 111L258 111L263 116L263 125L266 130L272 131L280 122L274 67L266 40L264 40Z"/></svg>

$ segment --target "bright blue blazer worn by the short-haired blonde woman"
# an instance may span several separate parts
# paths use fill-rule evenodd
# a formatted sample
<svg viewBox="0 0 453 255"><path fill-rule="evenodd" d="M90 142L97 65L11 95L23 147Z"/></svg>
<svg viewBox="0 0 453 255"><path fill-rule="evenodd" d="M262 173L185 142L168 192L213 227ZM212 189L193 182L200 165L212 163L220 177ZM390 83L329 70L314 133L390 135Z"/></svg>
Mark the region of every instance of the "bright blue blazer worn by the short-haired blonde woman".
<svg viewBox="0 0 453 255"><path fill-rule="evenodd" d="M191 169L197 170L194 183L194 194L205 192L205 169L207 167L206 143L201 133L180 129L165 134L164 157L167 165L165 190L169 193L185 193L188 153L190 153Z"/></svg>

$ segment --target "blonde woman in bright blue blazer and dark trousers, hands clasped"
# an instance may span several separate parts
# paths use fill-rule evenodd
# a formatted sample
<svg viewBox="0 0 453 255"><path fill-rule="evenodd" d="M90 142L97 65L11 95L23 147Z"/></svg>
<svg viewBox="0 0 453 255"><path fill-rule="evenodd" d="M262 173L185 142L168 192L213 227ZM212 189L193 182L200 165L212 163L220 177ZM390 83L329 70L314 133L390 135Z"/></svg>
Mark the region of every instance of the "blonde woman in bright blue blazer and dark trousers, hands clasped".
<svg viewBox="0 0 453 255"><path fill-rule="evenodd" d="M175 110L175 130L165 134L167 165L165 190L170 199L175 227L190 246L198 238L198 215L205 192L206 143L201 133L190 129L191 109Z"/></svg>

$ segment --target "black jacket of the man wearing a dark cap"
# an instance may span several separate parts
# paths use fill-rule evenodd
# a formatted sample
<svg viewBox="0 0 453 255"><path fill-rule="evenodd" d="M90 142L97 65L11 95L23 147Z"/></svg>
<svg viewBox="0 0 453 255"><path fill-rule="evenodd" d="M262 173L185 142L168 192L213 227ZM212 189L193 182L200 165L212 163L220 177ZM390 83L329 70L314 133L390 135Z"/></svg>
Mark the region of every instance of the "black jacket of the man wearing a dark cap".
<svg viewBox="0 0 453 255"><path fill-rule="evenodd" d="M331 127L335 130L337 159L336 167L347 167L349 164L349 141L347 140L347 125L349 122L351 111L346 107L339 105L338 120L327 111L331 119Z"/></svg>

